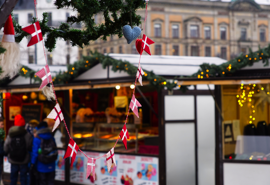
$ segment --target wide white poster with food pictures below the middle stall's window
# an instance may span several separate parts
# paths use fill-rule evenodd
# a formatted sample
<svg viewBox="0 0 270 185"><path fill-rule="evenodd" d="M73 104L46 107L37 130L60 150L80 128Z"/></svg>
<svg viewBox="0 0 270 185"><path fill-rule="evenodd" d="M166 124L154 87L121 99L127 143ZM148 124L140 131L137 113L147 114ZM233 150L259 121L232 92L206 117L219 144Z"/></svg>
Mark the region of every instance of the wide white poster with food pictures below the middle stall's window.
<svg viewBox="0 0 270 185"><path fill-rule="evenodd" d="M84 152L88 157L97 158L105 153ZM90 185L158 185L158 157L115 154L116 166L107 171L106 157L96 160L95 181L93 174L85 179L87 158L77 152L76 161L70 170L70 182Z"/></svg>

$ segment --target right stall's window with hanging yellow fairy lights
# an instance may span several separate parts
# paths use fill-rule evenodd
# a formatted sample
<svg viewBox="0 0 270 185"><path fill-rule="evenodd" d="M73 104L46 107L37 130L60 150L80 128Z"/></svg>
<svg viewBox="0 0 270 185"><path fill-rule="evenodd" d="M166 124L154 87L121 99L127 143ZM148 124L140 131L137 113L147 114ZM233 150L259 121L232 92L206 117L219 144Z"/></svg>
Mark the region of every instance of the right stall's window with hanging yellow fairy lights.
<svg viewBox="0 0 270 185"><path fill-rule="evenodd" d="M270 85L222 86L223 157L270 161Z"/></svg>

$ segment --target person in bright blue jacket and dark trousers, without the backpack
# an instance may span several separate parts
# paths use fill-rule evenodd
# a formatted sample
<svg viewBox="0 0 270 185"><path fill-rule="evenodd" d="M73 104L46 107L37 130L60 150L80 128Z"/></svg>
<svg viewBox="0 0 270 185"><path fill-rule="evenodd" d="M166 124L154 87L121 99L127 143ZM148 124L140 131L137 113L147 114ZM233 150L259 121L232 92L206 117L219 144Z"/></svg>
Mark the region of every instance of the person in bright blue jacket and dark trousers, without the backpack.
<svg viewBox="0 0 270 185"><path fill-rule="evenodd" d="M46 122L40 122L36 127L36 137L33 140L31 167L36 167L38 173L38 180L40 185L53 185L55 177L55 161L44 164L38 160L38 155L41 153L41 140L54 141L51 134L51 129L48 128ZM54 141L55 143L55 141Z"/></svg>

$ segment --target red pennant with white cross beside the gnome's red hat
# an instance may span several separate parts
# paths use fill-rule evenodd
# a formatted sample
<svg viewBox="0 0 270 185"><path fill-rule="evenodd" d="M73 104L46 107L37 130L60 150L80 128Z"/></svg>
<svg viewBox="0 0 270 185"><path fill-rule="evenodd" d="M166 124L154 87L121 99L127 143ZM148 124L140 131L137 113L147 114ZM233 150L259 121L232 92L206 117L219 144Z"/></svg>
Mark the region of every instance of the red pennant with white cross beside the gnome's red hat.
<svg viewBox="0 0 270 185"><path fill-rule="evenodd" d="M31 24L30 26L22 28L22 30L27 32L28 34L31 34L32 36L29 43L27 44L27 47L37 44L39 41L42 41L43 39L38 21L35 22L34 24Z"/></svg>

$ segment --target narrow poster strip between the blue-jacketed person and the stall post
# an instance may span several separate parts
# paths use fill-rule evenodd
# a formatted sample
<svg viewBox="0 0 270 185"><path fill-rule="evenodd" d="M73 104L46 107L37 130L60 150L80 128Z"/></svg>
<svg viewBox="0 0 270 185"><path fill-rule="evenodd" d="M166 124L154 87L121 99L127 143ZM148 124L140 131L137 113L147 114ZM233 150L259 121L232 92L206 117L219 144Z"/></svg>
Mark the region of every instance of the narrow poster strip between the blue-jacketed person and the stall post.
<svg viewBox="0 0 270 185"><path fill-rule="evenodd" d="M55 180L65 181L65 151L58 150L58 157L55 163Z"/></svg>

